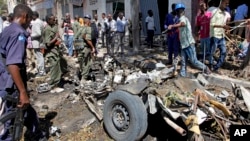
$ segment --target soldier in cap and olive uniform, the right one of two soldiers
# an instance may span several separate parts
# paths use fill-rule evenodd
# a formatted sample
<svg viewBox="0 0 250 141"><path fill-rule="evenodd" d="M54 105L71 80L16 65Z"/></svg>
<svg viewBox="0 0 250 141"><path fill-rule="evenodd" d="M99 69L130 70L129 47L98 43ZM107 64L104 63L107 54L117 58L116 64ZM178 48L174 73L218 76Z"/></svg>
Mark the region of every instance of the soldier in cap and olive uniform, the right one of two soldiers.
<svg viewBox="0 0 250 141"><path fill-rule="evenodd" d="M84 16L84 27L81 32L81 37L84 41L84 49L79 52L78 60L81 72L80 86L83 87L87 82L87 77L92 64L92 57L95 55L95 47L91 41L91 17L90 15Z"/></svg>

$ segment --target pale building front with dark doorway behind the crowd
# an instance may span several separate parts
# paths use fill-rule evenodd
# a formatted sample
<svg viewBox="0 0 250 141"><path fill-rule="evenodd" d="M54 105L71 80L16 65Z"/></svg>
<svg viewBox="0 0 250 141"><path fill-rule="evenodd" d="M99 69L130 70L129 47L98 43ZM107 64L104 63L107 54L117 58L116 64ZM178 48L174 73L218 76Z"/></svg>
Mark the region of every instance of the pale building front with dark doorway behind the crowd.
<svg viewBox="0 0 250 141"><path fill-rule="evenodd" d="M38 11L40 18L44 18L47 14L53 13L57 15L59 22L65 13L83 17L90 14L92 17L97 14L101 19L102 13L111 13L116 15L122 11L127 19L131 19L131 0L33 0L30 6L33 10ZM152 9L156 25L156 34L160 34L163 29L165 15L171 11L171 4L182 2L186 5L186 15L193 22L192 4L198 3L199 0L139 0L139 11L142 13L142 23L147 16L147 11ZM139 13L138 13L139 14ZM143 24L143 27L145 24ZM143 28L145 29L145 28ZM146 33L146 31L144 31Z"/></svg>

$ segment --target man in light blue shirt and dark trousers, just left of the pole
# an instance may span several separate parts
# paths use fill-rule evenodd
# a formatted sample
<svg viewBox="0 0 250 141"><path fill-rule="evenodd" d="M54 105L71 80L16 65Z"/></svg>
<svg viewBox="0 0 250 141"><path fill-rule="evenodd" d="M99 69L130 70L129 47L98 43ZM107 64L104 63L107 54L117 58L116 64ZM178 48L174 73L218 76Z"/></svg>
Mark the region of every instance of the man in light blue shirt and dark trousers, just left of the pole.
<svg viewBox="0 0 250 141"><path fill-rule="evenodd" d="M125 27L127 25L127 20L124 17L124 14L122 12L119 12L118 18L116 20L116 26L117 26L117 36L118 36L118 46L116 52L119 51L119 47L121 48L121 54L124 54L124 37L125 37Z"/></svg>

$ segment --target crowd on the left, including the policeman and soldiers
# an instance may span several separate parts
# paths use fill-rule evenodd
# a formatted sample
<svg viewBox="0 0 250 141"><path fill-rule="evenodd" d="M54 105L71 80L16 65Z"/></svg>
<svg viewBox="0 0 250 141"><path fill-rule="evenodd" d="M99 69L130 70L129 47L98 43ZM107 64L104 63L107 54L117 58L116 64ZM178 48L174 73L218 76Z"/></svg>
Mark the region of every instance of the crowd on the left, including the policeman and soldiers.
<svg viewBox="0 0 250 141"><path fill-rule="evenodd" d="M18 4L13 13L7 18L3 16L2 19L0 98L11 94L19 97L19 103L13 105L9 101L0 102L3 108L0 115L8 113L16 106L23 108L27 113L24 125L27 126L28 134L25 134L25 138L45 141L47 139L39 128L36 112L30 105L27 73L34 73L36 78L45 76L50 92L60 93L64 91L62 77L69 71L67 61L69 58L77 58L81 74L80 86L83 87L87 83L93 57L98 53L98 42L102 40L102 47L106 47L110 55L117 54L119 50L124 54L123 40L127 20L122 12L116 20L112 14L106 17L106 14L102 13L101 21L97 15L94 15L94 19L90 15L75 15L74 19L71 19L70 14L66 13L62 24L59 25L55 15L48 14L45 20L41 20L38 12L23 4ZM63 30L62 36L59 34L60 28ZM67 48L66 55L60 49L62 42ZM13 124L14 121L11 121L4 127L0 140L12 140L9 127Z"/></svg>

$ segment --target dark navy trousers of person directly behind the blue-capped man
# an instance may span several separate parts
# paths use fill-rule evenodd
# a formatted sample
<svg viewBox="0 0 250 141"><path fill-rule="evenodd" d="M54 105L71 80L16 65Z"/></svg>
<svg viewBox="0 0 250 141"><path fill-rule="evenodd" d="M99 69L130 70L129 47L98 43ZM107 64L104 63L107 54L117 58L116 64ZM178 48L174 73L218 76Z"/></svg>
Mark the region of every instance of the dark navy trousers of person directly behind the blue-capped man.
<svg viewBox="0 0 250 141"><path fill-rule="evenodd" d="M180 42L179 42L179 35L177 33L168 35L167 42L168 42L168 61L170 63L173 62L173 54L174 58L178 56L178 52L180 49Z"/></svg>

